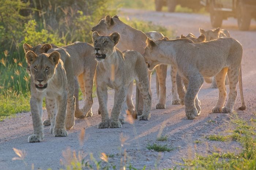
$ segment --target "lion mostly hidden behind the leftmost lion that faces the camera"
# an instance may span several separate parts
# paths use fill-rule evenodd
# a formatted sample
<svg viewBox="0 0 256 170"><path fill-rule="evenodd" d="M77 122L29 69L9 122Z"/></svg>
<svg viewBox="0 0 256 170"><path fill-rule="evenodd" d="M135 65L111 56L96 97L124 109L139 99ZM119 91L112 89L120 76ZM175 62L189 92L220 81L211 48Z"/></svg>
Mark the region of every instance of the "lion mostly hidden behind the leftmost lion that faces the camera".
<svg viewBox="0 0 256 170"><path fill-rule="evenodd" d="M25 52L31 50L31 51L34 51L35 54L37 55L43 52L47 52L51 48L61 48L66 50L68 54L71 56L72 64L74 66L74 75L75 75L74 95L75 95L75 98L77 99L76 108L75 108L75 117L82 119L86 116L93 115L91 106L93 105L92 93L93 93L94 75L95 75L97 61L95 61L94 59L94 55L93 55L94 48L93 46L91 46L91 44L76 41L75 43L72 43L63 47L57 47L54 44L47 44L47 46L46 44L45 46L39 44L38 46L32 47L29 44L24 43L23 48ZM84 106L82 108L82 111L79 110L78 83L84 97ZM50 111L47 103L48 101L46 100L46 108L49 113ZM48 119L44 121L45 126L50 125L49 119L50 118L48 114Z"/></svg>

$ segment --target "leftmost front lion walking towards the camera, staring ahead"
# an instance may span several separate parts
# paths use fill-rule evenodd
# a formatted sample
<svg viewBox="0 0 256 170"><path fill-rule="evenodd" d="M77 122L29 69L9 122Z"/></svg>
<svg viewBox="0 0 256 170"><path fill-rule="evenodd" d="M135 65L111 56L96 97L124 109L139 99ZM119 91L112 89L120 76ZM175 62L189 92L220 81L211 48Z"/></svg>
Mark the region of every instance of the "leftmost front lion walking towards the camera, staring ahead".
<svg viewBox="0 0 256 170"><path fill-rule="evenodd" d="M59 52L49 51L47 54L39 55L36 55L33 51L26 52L26 61L30 67L31 75L30 109L33 120L33 135L29 136L28 142L41 142L44 139L42 102L45 96L52 105L50 133L53 133L54 137L68 136L65 130L67 121L65 116L74 116L75 101L73 100L72 91L68 87L70 82L67 80L68 75L64 66L69 66L72 69L72 63L65 51ZM69 69L67 68L67 70ZM72 104L69 103L70 100L72 100ZM73 123L74 121L75 118L72 119Z"/></svg>

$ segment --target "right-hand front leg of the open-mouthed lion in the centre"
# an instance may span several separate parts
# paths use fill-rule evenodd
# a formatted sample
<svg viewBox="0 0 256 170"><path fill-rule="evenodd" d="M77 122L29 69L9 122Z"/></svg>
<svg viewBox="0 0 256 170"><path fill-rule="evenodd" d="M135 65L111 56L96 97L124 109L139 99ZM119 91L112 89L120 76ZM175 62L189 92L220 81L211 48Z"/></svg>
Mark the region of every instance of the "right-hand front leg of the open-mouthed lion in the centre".
<svg viewBox="0 0 256 170"><path fill-rule="evenodd" d="M119 115L120 115L120 110L121 110L121 104L125 100L125 88L121 87L118 90L115 90L115 95L114 95L114 106L111 112L111 117L110 117L110 128L118 128L122 127L122 124L119 120Z"/></svg>

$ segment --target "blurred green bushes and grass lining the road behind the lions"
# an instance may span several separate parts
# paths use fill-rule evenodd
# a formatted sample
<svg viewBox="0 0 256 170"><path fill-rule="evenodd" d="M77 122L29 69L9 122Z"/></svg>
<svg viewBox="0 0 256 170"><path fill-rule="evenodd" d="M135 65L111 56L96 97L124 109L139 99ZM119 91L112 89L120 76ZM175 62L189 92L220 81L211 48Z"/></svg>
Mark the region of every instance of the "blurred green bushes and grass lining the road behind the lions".
<svg viewBox="0 0 256 170"><path fill-rule="evenodd" d="M153 0L150 0L153 1ZM1 0L0 1L0 120L29 111L30 78L23 43L31 46L74 41L91 43L91 28L106 15L116 15L128 0ZM145 0L133 1L143 8ZM125 23L143 32L167 29L138 20Z"/></svg>

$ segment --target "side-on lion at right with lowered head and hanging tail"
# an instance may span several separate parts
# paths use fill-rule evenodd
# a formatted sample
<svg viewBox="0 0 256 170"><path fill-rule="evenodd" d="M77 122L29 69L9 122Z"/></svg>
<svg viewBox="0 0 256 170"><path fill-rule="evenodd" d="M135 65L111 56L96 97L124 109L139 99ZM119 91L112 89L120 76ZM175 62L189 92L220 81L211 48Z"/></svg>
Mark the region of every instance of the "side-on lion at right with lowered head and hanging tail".
<svg viewBox="0 0 256 170"><path fill-rule="evenodd" d="M239 109L245 110L241 77L242 46L237 40L222 37L208 42L193 43L187 38L158 41L147 39L146 43L143 56L148 63L149 70L153 70L162 63L171 64L178 69L187 89L185 97L179 88L178 93L181 99L184 97L188 119L194 119L200 114L200 101L197 94L203 85L204 77L216 76L217 79L219 99L215 107L212 108L212 112L233 112L238 81L242 101L242 106ZM157 55L158 57L156 57ZM223 107L226 99L226 74L229 77L230 92L229 99Z"/></svg>

